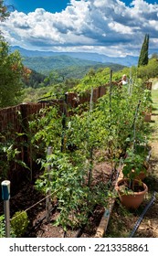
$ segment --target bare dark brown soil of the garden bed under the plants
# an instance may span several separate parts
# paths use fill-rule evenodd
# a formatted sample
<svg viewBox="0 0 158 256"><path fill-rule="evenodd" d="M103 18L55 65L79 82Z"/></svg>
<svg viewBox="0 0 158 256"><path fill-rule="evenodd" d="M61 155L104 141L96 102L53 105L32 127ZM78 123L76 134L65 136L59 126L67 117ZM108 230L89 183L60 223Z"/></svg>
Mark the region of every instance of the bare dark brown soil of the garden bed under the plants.
<svg viewBox="0 0 158 256"><path fill-rule="evenodd" d="M99 183L100 181L107 185L110 183L111 186L115 183L115 177L117 173L112 173L111 165L103 162L94 165L93 168L93 183ZM68 229L66 232L62 227L54 226L55 220L59 215L58 208L56 208L57 201L52 201L52 209L50 216L50 223L46 220L46 199L42 200L44 196L39 193L33 184L24 183L23 188L14 196L10 198L10 215L11 218L16 211L26 210L29 227L26 231L25 237L28 238L75 238L83 237L90 238L94 237L96 231L100 225L100 220L103 216L105 208L96 205L93 211L90 213L87 225L84 225L81 229ZM3 202L0 203L0 215L3 214Z"/></svg>

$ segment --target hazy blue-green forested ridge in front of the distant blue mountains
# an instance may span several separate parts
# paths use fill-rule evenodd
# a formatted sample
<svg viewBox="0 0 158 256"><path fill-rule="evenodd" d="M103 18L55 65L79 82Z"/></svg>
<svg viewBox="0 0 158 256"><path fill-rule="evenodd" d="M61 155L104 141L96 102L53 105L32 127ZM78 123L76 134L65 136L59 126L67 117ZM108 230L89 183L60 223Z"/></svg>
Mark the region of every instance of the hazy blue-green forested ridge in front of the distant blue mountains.
<svg viewBox="0 0 158 256"><path fill-rule="evenodd" d="M45 75L48 75L52 70L56 70L65 78L79 79L82 78L90 68L99 69L111 67L111 69L118 70L124 67L119 64L77 59L66 55L56 57L25 57L23 63L27 68L36 70Z"/></svg>

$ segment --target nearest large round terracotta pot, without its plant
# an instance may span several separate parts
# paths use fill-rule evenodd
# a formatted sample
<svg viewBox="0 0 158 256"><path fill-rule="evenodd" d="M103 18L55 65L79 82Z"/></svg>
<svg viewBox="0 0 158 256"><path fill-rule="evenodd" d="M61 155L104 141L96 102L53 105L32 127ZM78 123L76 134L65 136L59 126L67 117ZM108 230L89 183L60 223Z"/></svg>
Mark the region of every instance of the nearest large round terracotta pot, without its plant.
<svg viewBox="0 0 158 256"><path fill-rule="evenodd" d="M139 206L142 204L142 201L144 199L144 196L145 194L147 193L148 191L148 187L142 183L142 187L143 187L143 190L140 191L140 192L131 192L130 194L126 194L125 192L123 192L121 190L121 185L124 184L124 182L126 184L129 183L129 179L128 178L122 178L121 180L119 180L117 182L117 185L116 185L116 190L118 192L118 195L120 197L120 200L121 200L121 204L123 206L125 206L126 208L139 208ZM139 180L134 180L135 184L139 184L140 181Z"/></svg>

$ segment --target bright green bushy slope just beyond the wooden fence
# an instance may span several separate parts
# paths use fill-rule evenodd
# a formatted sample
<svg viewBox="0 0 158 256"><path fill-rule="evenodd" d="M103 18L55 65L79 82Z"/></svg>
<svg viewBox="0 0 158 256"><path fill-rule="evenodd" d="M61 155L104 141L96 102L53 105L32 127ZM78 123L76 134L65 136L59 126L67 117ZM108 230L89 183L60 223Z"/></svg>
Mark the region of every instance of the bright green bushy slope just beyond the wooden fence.
<svg viewBox="0 0 158 256"><path fill-rule="evenodd" d="M69 68L70 69L70 68ZM158 76L158 61L154 57L149 59L148 65L140 68L123 68L120 70L112 69L112 81L118 82L121 80L122 74L133 82L138 79L144 83ZM61 98L67 91L90 91L91 87L97 88L100 85L105 85L110 82L111 68L89 69L82 79L67 79L64 74L52 72L43 82L39 83L38 88L28 87L23 92L24 95L21 101L37 101L39 98L48 97ZM37 89L36 89L37 88Z"/></svg>

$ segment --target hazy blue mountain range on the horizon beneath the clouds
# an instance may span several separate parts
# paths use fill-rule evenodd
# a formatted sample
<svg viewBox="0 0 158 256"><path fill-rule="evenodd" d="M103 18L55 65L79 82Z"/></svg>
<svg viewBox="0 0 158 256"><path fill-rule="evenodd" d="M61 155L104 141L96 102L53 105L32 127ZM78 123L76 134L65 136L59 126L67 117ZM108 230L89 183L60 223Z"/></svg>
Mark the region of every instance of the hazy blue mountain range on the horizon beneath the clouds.
<svg viewBox="0 0 158 256"><path fill-rule="evenodd" d="M86 59L90 61L96 61L100 63L115 63L123 66L135 66L138 63L138 57L126 56L126 57L109 57L104 54L90 53L90 52L54 52L54 51L38 51L38 50L27 50L20 47L12 47L11 50L19 50L21 55L24 57L59 57L68 56L77 59Z"/></svg>

